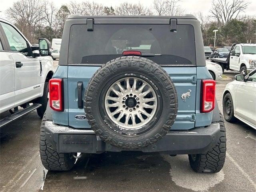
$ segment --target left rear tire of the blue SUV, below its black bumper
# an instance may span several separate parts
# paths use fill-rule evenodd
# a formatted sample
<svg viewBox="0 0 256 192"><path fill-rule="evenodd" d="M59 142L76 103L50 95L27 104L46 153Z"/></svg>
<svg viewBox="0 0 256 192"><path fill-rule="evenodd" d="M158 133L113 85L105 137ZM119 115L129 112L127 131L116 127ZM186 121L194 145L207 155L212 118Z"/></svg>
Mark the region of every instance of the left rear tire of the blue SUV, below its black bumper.
<svg viewBox="0 0 256 192"><path fill-rule="evenodd" d="M46 140L44 133L44 123L47 119L42 119L40 128L40 157L43 166L47 170L67 171L75 164L75 158L72 153L58 153Z"/></svg>

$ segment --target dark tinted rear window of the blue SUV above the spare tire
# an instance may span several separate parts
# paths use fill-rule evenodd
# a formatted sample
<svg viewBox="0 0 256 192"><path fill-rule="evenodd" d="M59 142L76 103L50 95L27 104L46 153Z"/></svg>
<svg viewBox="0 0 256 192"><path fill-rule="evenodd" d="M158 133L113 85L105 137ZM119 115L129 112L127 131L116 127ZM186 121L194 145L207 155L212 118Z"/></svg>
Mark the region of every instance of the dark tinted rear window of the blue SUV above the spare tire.
<svg viewBox="0 0 256 192"><path fill-rule="evenodd" d="M160 65L195 65L194 28L177 25L177 32L161 24L94 24L93 31L87 31L86 24L70 28L68 64L104 64L125 50L140 50Z"/></svg>

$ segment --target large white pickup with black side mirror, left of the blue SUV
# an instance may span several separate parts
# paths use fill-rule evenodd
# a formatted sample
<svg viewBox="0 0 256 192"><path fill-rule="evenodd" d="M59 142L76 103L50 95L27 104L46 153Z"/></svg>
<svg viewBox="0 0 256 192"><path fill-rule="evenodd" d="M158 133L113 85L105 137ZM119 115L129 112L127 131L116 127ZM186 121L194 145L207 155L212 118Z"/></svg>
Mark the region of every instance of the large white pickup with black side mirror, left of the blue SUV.
<svg viewBox="0 0 256 192"><path fill-rule="evenodd" d="M32 46L18 28L0 18L0 114L11 113L0 120L0 127L35 109L44 115L54 72L50 46L47 39Z"/></svg>

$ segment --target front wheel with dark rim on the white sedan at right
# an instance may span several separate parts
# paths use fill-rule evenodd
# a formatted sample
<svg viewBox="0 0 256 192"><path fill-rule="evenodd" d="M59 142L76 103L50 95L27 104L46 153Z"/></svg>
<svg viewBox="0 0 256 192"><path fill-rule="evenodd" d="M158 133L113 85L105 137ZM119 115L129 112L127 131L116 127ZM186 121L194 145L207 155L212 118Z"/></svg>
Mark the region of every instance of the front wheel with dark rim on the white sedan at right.
<svg viewBox="0 0 256 192"><path fill-rule="evenodd" d="M224 119L230 123L235 122L236 118L234 116L234 105L233 105L233 100L230 93L227 93L224 96L222 106L223 106Z"/></svg>

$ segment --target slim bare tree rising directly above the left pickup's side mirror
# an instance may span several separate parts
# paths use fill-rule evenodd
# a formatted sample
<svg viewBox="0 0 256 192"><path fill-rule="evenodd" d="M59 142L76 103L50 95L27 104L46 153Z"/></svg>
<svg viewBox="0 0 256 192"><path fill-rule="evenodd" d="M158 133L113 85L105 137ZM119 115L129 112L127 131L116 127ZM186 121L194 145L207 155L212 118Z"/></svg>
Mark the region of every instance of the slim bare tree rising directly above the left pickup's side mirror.
<svg viewBox="0 0 256 192"><path fill-rule="evenodd" d="M54 22L54 14L57 11L57 8L54 6L54 3L45 1L43 4L44 20L47 25L52 28L52 23Z"/></svg>

